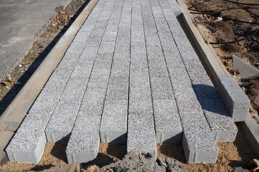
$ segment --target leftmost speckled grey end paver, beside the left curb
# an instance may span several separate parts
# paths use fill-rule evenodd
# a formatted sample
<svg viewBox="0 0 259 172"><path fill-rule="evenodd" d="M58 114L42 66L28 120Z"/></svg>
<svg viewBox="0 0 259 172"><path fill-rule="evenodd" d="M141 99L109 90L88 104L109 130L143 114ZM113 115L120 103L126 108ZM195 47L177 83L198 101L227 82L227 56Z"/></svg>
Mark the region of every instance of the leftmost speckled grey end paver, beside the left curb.
<svg viewBox="0 0 259 172"><path fill-rule="evenodd" d="M50 115L27 115L5 151L11 162L37 164L43 154Z"/></svg>

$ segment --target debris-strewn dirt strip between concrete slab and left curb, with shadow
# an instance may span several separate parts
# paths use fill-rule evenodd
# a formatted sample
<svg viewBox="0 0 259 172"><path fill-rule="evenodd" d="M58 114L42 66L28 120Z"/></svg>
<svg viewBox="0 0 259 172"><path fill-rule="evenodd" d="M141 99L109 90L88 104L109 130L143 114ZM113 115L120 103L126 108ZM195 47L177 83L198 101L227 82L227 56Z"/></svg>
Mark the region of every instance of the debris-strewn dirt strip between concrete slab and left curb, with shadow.
<svg viewBox="0 0 259 172"><path fill-rule="evenodd" d="M36 71L61 36L74 22L89 0L72 0L40 34L30 53L5 78L0 78L0 115Z"/></svg>

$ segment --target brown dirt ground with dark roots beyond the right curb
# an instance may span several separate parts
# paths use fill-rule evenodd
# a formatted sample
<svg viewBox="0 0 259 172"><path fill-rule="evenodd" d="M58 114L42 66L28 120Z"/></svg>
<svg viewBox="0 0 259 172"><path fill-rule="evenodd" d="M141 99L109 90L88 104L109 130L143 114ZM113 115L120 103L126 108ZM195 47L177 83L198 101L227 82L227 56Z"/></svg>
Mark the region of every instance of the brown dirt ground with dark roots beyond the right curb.
<svg viewBox="0 0 259 172"><path fill-rule="evenodd" d="M259 4L259 0L231 1ZM259 77L240 79L237 76L238 71L233 70L232 62L234 54L259 69L259 5L234 2L185 0L203 38L214 47L228 72L248 95L252 107L259 112ZM216 21L219 16L223 16L222 21ZM240 39L242 40L237 41ZM226 43L229 41L235 42Z"/></svg>

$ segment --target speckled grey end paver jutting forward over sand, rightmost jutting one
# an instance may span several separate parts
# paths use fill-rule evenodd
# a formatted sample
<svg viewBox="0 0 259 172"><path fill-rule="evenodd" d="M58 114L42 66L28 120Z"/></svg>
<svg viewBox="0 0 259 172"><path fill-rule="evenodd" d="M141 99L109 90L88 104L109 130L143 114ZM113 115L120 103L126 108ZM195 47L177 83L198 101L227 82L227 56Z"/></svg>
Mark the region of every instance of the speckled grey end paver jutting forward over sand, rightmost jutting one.
<svg viewBox="0 0 259 172"><path fill-rule="evenodd" d="M183 127L182 145L186 162L216 163L219 148L215 144L210 127L204 115L181 115Z"/></svg>

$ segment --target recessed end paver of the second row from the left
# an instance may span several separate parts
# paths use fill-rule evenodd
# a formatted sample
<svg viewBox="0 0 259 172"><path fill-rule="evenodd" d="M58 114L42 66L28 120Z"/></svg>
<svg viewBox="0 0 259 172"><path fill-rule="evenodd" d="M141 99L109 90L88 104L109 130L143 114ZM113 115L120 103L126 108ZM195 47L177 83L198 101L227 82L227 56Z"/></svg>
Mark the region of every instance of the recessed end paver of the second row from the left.
<svg viewBox="0 0 259 172"><path fill-rule="evenodd" d="M48 142L68 143L80 103L80 100L59 101L45 129Z"/></svg>

